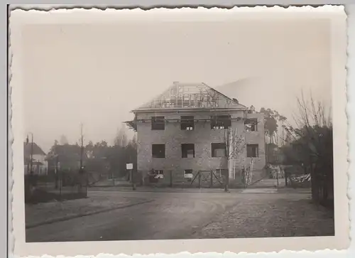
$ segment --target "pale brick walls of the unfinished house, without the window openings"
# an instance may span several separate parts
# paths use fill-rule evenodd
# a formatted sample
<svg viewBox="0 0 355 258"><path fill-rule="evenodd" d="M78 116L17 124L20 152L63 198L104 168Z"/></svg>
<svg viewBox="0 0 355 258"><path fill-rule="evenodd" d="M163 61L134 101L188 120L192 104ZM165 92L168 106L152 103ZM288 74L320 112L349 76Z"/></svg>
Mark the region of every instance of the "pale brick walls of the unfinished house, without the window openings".
<svg viewBox="0 0 355 258"><path fill-rule="evenodd" d="M218 114L224 114L218 112ZM231 114L231 113L229 113ZM209 119L217 112L159 112L157 116L164 116L165 119L180 119L182 115L194 116L195 119ZM260 114L248 114L254 117L262 117ZM139 113L137 119L151 119L155 113ZM231 114L232 118L244 117L242 111L235 111ZM263 123L263 121L262 121ZM259 157L254 158L256 169L265 166L265 144L263 137L263 124L258 125L260 131L245 132L243 120L233 120L231 127L237 128L241 134L245 134L247 143L259 144ZM173 175L173 183L186 183L189 180L184 178L185 169L192 169L194 177L197 171L211 171L217 169L227 169L228 160L226 157L212 157L211 144L225 142L224 129L211 129L210 122L195 122L195 129L184 131L180 129L180 122L165 122L165 130L151 130L151 121L138 122L137 141L138 141L138 164L137 169L146 175L151 169L163 170L164 179L159 181L165 184L170 183L170 175ZM165 144L165 158L152 157L152 144ZM195 158L182 158L181 144L195 144ZM237 167L241 164L250 162L246 158L246 149L239 157ZM171 172L170 172L171 171ZM146 180L146 179L145 179Z"/></svg>

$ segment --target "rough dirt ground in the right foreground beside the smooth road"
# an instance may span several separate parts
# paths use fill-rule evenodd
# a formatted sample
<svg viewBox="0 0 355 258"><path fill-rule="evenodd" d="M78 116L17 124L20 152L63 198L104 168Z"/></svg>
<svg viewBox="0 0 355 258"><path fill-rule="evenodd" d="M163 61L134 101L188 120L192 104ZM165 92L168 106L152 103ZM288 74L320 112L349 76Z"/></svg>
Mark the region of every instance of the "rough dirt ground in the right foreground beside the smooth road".
<svg viewBox="0 0 355 258"><path fill-rule="evenodd" d="M215 218L195 238L306 237L334 235L334 215L310 199L250 196Z"/></svg>

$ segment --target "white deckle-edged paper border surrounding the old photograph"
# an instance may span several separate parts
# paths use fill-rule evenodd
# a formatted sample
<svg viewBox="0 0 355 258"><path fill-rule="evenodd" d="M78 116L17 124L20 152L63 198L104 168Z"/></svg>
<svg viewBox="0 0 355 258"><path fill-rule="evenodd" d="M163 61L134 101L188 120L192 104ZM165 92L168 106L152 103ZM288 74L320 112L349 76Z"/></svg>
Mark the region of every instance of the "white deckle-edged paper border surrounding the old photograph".
<svg viewBox="0 0 355 258"><path fill-rule="evenodd" d="M21 77L21 26L28 23L112 23L124 19L196 21L197 19L243 18L329 18L332 26L332 108L334 123L334 237L285 237L215 240L143 240L112 242L52 242L26 243L23 198L23 91ZM346 119L346 15L342 6L307 7L254 7L234 9L151 9L142 11L115 10L58 10L12 11L11 30L11 102L13 132L13 188L12 214L14 254L20 256L97 255L97 254L175 254L179 252L280 252L281 250L346 249L349 246L349 207L347 192L347 119Z"/></svg>

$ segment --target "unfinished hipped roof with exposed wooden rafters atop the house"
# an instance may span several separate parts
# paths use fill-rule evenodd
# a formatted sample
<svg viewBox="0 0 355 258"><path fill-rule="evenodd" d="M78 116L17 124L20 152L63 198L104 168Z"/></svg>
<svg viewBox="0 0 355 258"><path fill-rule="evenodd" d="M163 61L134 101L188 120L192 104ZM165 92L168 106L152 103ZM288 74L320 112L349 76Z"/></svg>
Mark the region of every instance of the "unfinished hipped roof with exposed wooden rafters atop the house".
<svg viewBox="0 0 355 258"><path fill-rule="evenodd" d="M174 82L172 86L133 112L159 109L246 109L237 100L204 83Z"/></svg>

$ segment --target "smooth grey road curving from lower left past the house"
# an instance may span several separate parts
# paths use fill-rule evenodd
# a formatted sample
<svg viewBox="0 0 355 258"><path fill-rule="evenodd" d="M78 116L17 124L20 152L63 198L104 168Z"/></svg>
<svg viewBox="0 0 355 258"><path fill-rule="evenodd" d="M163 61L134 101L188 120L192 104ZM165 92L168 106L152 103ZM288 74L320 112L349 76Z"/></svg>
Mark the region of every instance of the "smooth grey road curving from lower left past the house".
<svg viewBox="0 0 355 258"><path fill-rule="evenodd" d="M162 240L192 238L228 210L239 206L244 213L251 200L300 200L299 193L154 193L89 192L91 196L143 197L151 203L106 213L74 218L26 230L27 242L67 242L98 240ZM252 205L252 203L250 203ZM246 209L246 210L245 210ZM254 208L255 209L255 208Z"/></svg>

